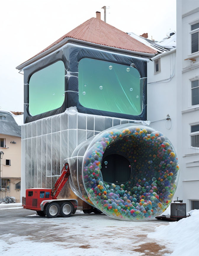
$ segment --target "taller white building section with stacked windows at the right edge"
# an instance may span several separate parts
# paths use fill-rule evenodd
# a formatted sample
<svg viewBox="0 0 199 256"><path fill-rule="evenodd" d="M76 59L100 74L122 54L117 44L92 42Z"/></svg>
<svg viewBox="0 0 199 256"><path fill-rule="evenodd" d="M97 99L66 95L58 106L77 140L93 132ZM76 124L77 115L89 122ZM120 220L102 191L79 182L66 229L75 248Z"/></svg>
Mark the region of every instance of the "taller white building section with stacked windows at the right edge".
<svg viewBox="0 0 199 256"><path fill-rule="evenodd" d="M199 2L177 1L177 113L181 183L187 209L199 209Z"/></svg>

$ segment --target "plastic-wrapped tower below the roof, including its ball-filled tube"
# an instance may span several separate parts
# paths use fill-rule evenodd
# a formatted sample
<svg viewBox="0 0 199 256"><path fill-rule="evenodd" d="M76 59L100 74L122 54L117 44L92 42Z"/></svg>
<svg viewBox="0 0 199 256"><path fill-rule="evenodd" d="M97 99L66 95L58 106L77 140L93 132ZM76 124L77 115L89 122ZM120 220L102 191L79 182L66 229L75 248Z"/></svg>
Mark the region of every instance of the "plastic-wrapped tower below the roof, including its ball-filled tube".
<svg viewBox="0 0 199 256"><path fill-rule="evenodd" d="M150 220L170 204L179 164L170 141L147 125L147 59L67 40L21 65L22 194L52 188L67 161L62 197L75 193L113 218Z"/></svg>

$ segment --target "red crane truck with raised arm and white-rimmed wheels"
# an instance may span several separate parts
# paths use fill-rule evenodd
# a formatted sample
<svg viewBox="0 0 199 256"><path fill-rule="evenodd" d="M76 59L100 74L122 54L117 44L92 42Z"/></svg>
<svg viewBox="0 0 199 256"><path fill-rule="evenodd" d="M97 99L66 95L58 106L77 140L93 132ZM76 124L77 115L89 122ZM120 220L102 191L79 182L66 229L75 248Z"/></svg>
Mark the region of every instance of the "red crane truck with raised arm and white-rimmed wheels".
<svg viewBox="0 0 199 256"><path fill-rule="evenodd" d="M76 199L57 199L69 175L69 165L65 163L61 176L58 178L53 189L26 189L26 196L22 197L23 208L36 211L39 216L46 216L47 218L55 218L58 215L70 217L71 214L75 214L78 205Z"/></svg>

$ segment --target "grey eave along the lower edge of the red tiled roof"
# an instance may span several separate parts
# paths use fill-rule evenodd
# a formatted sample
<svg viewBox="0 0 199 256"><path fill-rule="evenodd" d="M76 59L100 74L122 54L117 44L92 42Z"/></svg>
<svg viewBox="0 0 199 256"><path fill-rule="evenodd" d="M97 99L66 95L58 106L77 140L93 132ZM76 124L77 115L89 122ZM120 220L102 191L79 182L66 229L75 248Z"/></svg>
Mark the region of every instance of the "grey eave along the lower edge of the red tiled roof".
<svg viewBox="0 0 199 256"><path fill-rule="evenodd" d="M107 45L95 44L95 43L92 43L92 42L79 40L79 39L75 39L75 38L72 38L72 37L66 37L62 41L60 41L59 43L57 43L54 46L52 46L51 48L47 49L46 51L40 53L39 55L37 55L33 58L31 58L30 60L25 61L24 63L20 64L19 66L16 67L16 69L22 70L26 66L32 64L33 62L35 62L37 60L40 60L41 58L45 57L46 55L49 55L50 53L52 53L52 52L56 51L57 49L61 48L63 45L67 44L68 40L73 40L73 41L82 42L82 43L91 44L91 45L97 45L97 46L100 46L100 47L103 47L103 48L114 49L114 50L118 50L118 51L121 51L121 52L130 52L132 54L137 54L137 55L144 55L144 56L149 56L149 57L155 56L155 53L135 52L135 51L116 48L116 47L111 47L111 46L107 46Z"/></svg>

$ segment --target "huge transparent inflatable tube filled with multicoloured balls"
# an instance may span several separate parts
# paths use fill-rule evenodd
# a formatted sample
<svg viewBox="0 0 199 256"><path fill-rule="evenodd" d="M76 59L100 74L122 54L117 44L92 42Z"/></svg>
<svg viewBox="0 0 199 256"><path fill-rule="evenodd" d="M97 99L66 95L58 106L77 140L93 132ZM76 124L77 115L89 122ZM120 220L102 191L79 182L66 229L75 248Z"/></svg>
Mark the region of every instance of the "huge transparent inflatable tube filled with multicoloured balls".
<svg viewBox="0 0 199 256"><path fill-rule="evenodd" d="M128 181L103 181L104 154L119 154L129 160ZM73 192L120 220L150 220L160 215L171 203L179 177L178 159L168 138L139 124L118 125L81 143L69 164Z"/></svg>

